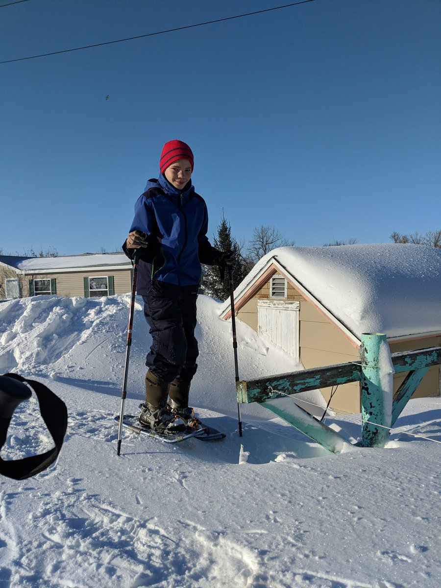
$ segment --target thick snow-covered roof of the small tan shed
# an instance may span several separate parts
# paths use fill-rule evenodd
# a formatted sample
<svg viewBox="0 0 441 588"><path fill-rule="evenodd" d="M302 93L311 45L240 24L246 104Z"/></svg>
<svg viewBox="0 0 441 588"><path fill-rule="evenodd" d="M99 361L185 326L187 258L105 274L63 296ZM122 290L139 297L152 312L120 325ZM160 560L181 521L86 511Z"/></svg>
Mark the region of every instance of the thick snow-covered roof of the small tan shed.
<svg viewBox="0 0 441 588"><path fill-rule="evenodd" d="M441 333L441 249L409 243L282 247L255 265L235 301L271 266L343 330L388 339ZM230 309L226 300L221 309Z"/></svg>

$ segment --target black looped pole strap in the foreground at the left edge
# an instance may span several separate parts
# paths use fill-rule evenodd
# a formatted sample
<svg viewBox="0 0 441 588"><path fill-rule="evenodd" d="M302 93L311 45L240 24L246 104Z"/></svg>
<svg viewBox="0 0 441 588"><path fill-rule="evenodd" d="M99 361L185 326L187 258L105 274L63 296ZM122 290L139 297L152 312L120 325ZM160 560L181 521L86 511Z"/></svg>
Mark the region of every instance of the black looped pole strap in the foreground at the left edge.
<svg viewBox="0 0 441 588"><path fill-rule="evenodd" d="M6 441L14 410L19 403L31 397L31 390L25 382L36 394L42 419L54 439L55 447L45 453L22 459L4 460L0 457L0 474L14 480L24 480L35 476L54 463L63 445L68 426L68 411L65 403L47 386L35 380L26 380L16 373L6 373L0 376L0 450Z"/></svg>

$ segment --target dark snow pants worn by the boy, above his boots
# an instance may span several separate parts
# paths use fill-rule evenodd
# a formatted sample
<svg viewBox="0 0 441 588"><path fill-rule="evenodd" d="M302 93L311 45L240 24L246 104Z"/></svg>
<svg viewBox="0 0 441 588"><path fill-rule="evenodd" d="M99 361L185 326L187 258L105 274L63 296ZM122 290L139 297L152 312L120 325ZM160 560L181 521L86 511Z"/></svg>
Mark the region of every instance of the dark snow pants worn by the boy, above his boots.
<svg viewBox="0 0 441 588"><path fill-rule="evenodd" d="M190 381L198 368L198 290L199 285L180 287L153 280L148 294L142 296L144 316L152 335L145 365L165 382L172 382L175 377Z"/></svg>

